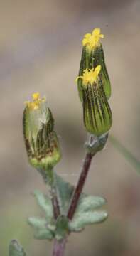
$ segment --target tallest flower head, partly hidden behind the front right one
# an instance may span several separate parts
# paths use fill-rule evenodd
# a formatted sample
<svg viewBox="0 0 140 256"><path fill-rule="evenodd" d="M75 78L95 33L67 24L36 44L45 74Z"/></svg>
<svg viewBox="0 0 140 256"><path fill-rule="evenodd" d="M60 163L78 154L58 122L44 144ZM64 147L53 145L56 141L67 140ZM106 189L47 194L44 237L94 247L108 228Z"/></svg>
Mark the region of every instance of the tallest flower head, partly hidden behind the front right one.
<svg viewBox="0 0 140 256"><path fill-rule="evenodd" d="M82 40L82 58L80 62L80 71L79 75L83 75L84 70L87 68L96 68L97 65L101 65L101 78L102 85L104 87L104 92L109 99L111 96L111 85L109 81L109 75L107 73L107 68L104 62L104 51L102 48L102 44L100 43L100 38L104 38L104 35L100 33L99 28L95 28L92 33L85 34ZM78 89L81 97L81 81L78 81Z"/></svg>

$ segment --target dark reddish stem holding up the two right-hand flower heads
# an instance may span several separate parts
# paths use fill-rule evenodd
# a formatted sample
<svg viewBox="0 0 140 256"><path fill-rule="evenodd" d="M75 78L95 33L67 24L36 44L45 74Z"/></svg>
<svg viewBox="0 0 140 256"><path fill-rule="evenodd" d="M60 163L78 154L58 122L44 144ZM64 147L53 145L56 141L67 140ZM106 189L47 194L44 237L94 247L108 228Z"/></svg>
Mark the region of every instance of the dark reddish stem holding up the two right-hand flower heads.
<svg viewBox="0 0 140 256"><path fill-rule="evenodd" d="M91 161L92 161L92 157L94 155L95 154L91 154L91 153L87 153L85 155L85 161L84 161L84 164L82 166L82 171L81 171L81 174L80 174L80 178L77 182L77 186L75 188L75 191L74 191L73 196L72 196L72 201L70 203L70 208L68 210L67 217L69 218L69 220L72 220L72 217L75 214L75 210L77 208L77 203L79 201L80 194L82 193L82 188L85 185L85 180L87 178L87 174L88 174L88 171L90 169L90 164L91 164Z"/></svg>

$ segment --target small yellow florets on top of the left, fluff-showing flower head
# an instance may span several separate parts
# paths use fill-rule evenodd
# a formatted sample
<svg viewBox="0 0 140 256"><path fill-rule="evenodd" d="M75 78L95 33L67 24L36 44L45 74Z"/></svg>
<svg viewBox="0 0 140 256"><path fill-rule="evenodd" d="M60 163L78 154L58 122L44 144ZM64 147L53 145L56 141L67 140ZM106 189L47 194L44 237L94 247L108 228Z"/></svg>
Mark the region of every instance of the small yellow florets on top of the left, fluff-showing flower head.
<svg viewBox="0 0 140 256"><path fill-rule="evenodd" d="M25 104L30 108L30 110L38 110L39 106L42 102L45 102L45 97L41 99L39 92L33 93L32 95L33 101L32 102L25 102Z"/></svg>

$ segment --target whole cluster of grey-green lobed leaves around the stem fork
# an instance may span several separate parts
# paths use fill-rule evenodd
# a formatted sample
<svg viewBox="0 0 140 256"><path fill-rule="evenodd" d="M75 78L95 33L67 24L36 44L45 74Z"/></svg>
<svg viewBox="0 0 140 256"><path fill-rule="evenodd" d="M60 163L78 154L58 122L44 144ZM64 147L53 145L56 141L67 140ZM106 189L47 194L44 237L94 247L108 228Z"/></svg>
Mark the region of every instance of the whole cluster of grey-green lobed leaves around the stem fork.
<svg viewBox="0 0 140 256"><path fill-rule="evenodd" d="M54 220L52 217L53 209L52 205L50 206L50 199L45 198L40 191L35 192L39 206L46 213L45 219L38 217L28 219L28 223L35 228L35 238L49 240L56 238L57 240L61 240L70 231L80 231L86 225L101 223L107 218L107 213L104 211L92 211L102 207L106 203L106 200L100 196L87 196L85 193L82 193L73 219L68 220L66 215L70 206L74 186L55 174L55 188L61 213L57 220ZM48 218L48 216L51 218Z"/></svg>

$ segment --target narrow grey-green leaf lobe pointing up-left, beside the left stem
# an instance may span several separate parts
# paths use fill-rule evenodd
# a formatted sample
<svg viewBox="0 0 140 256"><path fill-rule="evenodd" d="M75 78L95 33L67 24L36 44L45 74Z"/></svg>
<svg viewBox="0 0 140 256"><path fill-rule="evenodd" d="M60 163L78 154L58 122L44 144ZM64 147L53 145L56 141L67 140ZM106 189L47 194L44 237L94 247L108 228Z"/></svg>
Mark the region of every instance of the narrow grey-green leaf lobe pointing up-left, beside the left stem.
<svg viewBox="0 0 140 256"><path fill-rule="evenodd" d="M36 197L38 205L41 206L43 210L45 210L45 218L53 218L53 206L50 198L48 198L48 196L43 195L43 193L38 190L34 191L34 196Z"/></svg>

